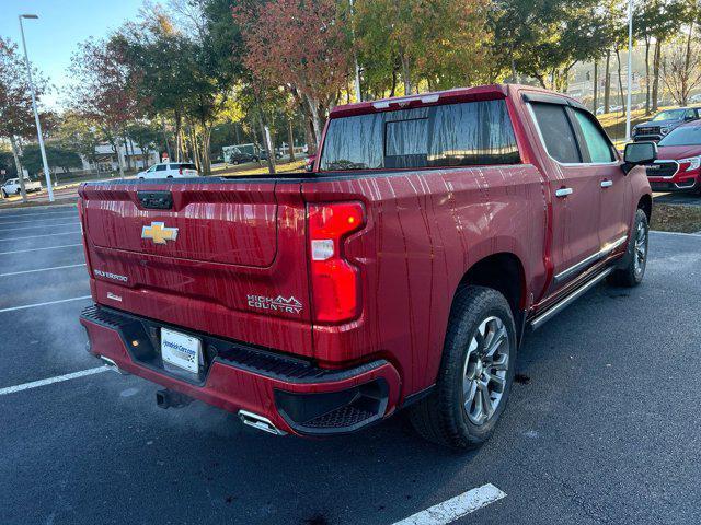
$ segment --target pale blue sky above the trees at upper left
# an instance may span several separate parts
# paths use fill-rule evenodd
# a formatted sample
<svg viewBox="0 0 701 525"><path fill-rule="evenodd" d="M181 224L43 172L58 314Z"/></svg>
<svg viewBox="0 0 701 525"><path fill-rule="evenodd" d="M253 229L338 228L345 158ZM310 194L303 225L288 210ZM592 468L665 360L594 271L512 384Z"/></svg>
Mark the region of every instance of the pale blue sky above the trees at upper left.
<svg viewBox="0 0 701 525"><path fill-rule="evenodd" d="M21 50L18 15L37 14L24 20L30 60L57 88L68 82L70 57L80 42L105 36L123 22L137 18L143 0L0 0L0 36L10 38ZM60 94L45 96L43 104L56 107Z"/></svg>

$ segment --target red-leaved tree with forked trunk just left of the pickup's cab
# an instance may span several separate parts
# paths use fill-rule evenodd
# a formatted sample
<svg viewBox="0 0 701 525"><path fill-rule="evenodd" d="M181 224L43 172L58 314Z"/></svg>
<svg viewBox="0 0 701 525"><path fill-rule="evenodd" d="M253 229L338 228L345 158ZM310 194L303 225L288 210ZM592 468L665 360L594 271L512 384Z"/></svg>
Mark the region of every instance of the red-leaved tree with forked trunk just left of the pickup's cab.
<svg viewBox="0 0 701 525"><path fill-rule="evenodd" d="M244 65L257 82L283 85L299 98L318 143L322 118L350 71L348 12L333 0L271 0L242 2L233 13L246 47Z"/></svg>

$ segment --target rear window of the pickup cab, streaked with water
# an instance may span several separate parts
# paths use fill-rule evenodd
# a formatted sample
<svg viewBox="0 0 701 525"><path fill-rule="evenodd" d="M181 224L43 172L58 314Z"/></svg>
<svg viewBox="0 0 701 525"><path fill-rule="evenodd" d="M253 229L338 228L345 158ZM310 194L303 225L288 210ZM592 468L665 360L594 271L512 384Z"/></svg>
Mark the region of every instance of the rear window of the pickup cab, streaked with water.
<svg viewBox="0 0 701 525"><path fill-rule="evenodd" d="M332 119L322 171L472 166L520 162L505 101Z"/></svg>

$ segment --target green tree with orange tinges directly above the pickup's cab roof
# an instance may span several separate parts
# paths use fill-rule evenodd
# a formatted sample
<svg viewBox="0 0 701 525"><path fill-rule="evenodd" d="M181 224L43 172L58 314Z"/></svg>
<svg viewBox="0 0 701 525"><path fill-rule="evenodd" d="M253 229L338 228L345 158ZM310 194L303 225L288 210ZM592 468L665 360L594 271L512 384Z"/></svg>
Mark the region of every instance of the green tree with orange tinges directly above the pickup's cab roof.
<svg viewBox="0 0 701 525"><path fill-rule="evenodd" d="M375 97L494 80L486 0L358 0L356 43ZM388 23L378 23L387 20Z"/></svg>

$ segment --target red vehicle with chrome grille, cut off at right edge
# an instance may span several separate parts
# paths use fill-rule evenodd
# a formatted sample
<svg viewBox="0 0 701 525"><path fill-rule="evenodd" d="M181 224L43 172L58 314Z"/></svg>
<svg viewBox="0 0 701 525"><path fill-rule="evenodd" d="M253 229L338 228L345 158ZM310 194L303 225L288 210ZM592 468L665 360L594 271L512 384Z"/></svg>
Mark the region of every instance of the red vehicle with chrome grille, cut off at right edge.
<svg viewBox="0 0 701 525"><path fill-rule="evenodd" d="M647 180L653 191L701 191L701 121L679 126L659 141Z"/></svg>

